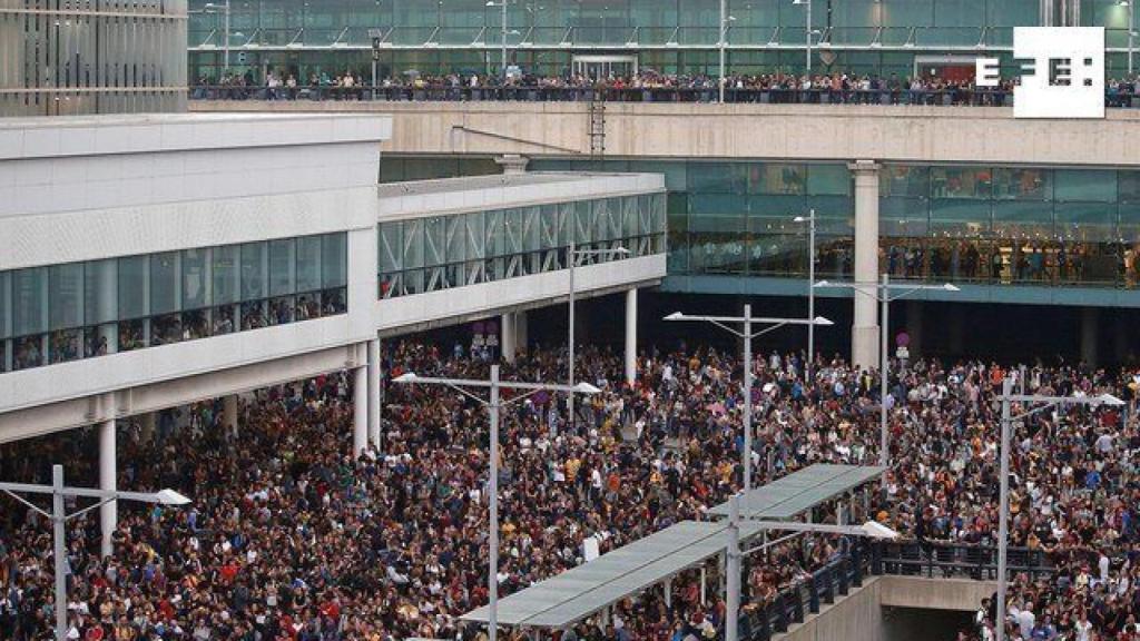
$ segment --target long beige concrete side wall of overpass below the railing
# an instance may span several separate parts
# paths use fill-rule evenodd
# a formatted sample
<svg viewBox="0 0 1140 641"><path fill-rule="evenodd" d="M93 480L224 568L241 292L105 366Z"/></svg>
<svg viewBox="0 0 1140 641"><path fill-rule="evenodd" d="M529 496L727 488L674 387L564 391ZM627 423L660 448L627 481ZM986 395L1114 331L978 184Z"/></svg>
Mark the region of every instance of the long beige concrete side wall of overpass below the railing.
<svg viewBox="0 0 1140 641"><path fill-rule="evenodd" d="M589 153L584 103L192 102L195 111L383 112L406 154ZM1140 113L1013 120L1005 107L609 103L605 155L1140 165Z"/></svg>

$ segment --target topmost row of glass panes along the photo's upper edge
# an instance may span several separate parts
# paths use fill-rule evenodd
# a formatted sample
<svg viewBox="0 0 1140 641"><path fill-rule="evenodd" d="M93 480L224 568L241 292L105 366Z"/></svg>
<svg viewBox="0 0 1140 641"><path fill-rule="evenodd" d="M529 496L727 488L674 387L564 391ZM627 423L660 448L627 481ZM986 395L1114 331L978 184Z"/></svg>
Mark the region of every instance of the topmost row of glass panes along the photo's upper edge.
<svg viewBox="0 0 1140 641"><path fill-rule="evenodd" d="M195 30L209 31L218 15L201 11L209 7L205 0L190 2ZM725 8L733 17L731 30L747 32L752 29L783 26L803 32L805 7L790 0L730 0ZM813 29L910 29L953 32L977 30L980 26L1008 30L1012 26L1040 24L1039 0L845 0L816 8L812 16ZM1127 27L1127 10L1118 0L1083 0L1082 24L1115 29ZM402 29L480 30L486 27L486 39L497 35L500 29L500 8L484 0L388 0L359 2L356 0L275 0L235 3L233 29L247 33L260 30L304 29L306 31L335 32L344 29L397 26ZM507 6L507 29L522 34L527 30L557 31L567 29L613 31L613 44L625 44L634 29L665 31L657 36L665 41L674 29L693 29L716 32L720 21L720 3L715 0L581 0L527 1ZM491 33L491 30L495 33ZM601 35L601 34L598 34ZM620 35L621 39L618 39ZM656 33L643 36L653 41ZM555 34L553 38L557 38ZM540 42L540 38L535 42ZM715 42L715 35L709 36ZM424 40L421 39L420 42ZM472 38L467 38L469 43ZM556 41L555 41L556 42ZM763 41L762 41L763 42ZM974 42L963 42L974 44ZM959 43L959 42L942 42Z"/></svg>

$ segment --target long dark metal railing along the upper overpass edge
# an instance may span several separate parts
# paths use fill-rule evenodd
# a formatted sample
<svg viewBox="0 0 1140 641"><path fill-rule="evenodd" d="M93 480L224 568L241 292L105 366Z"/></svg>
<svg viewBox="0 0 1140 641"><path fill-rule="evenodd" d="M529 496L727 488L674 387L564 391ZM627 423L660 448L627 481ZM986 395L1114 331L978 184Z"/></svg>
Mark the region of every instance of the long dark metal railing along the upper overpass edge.
<svg viewBox="0 0 1140 641"><path fill-rule="evenodd" d="M612 87L228 87L196 86L192 100L358 100L358 102L522 102L522 103L715 103L716 87L612 88ZM727 89L725 102L774 105L935 105L1012 106L1005 89ZM1140 96L1105 95L1105 105L1140 108Z"/></svg>

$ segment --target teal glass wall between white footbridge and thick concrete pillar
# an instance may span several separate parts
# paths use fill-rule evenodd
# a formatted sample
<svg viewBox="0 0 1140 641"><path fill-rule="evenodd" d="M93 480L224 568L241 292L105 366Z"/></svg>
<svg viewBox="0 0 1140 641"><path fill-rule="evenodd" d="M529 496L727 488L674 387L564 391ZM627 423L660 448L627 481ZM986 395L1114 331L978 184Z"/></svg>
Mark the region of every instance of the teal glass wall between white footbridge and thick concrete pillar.
<svg viewBox="0 0 1140 641"><path fill-rule="evenodd" d="M821 278L854 268L854 202L844 164L535 160L535 171L663 173L670 275L800 276L815 210Z"/></svg>

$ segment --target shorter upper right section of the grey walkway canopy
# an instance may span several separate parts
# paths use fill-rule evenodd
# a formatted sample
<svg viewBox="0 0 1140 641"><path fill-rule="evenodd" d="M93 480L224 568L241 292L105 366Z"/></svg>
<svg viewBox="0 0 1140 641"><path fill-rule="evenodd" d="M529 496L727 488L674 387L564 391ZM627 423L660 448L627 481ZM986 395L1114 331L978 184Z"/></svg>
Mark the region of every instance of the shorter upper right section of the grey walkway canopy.
<svg viewBox="0 0 1140 641"><path fill-rule="evenodd" d="M883 471L886 468L879 465L817 463L743 495L740 500L740 517L788 520L879 478ZM708 513L711 517L728 518L728 502L710 509Z"/></svg>

